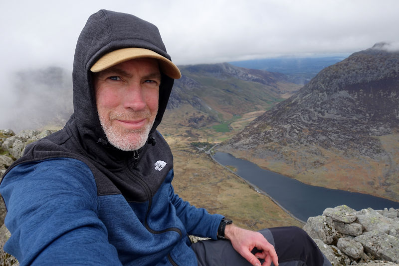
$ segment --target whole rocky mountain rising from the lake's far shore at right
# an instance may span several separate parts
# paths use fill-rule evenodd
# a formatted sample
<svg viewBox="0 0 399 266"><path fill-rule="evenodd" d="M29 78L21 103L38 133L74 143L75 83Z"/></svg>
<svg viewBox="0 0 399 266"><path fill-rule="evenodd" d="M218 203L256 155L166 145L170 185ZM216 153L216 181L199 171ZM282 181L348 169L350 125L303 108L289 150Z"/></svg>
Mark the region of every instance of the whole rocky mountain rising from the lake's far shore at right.
<svg viewBox="0 0 399 266"><path fill-rule="evenodd" d="M399 52L323 69L221 148L306 183L399 201Z"/></svg>

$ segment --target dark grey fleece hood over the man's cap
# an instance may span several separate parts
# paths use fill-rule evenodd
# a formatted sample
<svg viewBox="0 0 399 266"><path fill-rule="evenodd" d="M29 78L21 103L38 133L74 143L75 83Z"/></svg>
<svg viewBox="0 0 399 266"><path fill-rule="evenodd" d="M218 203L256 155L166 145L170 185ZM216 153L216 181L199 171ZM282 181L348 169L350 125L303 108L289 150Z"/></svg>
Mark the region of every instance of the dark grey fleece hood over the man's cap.
<svg viewBox="0 0 399 266"><path fill-rule="evenodd" d="M127 47L150 49L171 59L158 28L131 14L100 10L89 17L78 38L73 64L74 114L71 119L75 120L80 138L85 142L90 139L90 143L107 143L97 114L90 67L102 55ZM158 114L150 135L161 123L173 82L174 79L162 75Z"/></svg>

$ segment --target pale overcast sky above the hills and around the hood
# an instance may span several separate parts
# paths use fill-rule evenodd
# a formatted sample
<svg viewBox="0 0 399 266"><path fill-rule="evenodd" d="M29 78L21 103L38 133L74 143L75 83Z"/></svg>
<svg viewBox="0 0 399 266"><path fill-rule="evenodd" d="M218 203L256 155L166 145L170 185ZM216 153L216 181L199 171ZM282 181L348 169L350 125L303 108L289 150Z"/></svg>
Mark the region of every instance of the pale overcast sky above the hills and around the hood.
<svg viewBox="0 0 399 266"><path fill-rule="evenodd" d="M21 98L39 101L13 93L12 73L71 71L81 29L103 8L156 24L177 64L349 55L399 43L399 0L0 0L0 128L21 119L10 115Z"/></svg>

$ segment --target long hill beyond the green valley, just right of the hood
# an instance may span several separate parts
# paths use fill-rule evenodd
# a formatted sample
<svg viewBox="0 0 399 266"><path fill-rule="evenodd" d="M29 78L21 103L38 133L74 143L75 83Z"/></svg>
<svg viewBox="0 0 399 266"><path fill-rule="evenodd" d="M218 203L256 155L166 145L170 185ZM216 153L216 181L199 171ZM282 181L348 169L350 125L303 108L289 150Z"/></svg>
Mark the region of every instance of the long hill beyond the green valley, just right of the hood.
<svg viewBox="0 0 399 266"><path fill-rule="evenodd" d="M301 85L281 73L247 69L228 63L179 66L168 112L182 112L184 125L200 127L244 113L267 110ZM189 111L188 111L189 110Z"/></svg>

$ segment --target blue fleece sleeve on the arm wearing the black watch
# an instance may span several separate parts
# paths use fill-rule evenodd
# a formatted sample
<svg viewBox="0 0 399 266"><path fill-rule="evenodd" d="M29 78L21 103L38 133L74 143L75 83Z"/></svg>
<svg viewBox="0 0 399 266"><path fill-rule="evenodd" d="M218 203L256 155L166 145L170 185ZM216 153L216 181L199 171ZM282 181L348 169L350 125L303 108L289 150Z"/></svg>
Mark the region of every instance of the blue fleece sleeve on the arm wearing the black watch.
<svg viewBox="0 0 399 266"><path fill-rule="evenodd" d="M223 216L209 214L203 208L196 208L184 201L177 194L171 185L171 202L175 206L176 215L185 225L189 235L217 239L217 229Z"/></svg>

